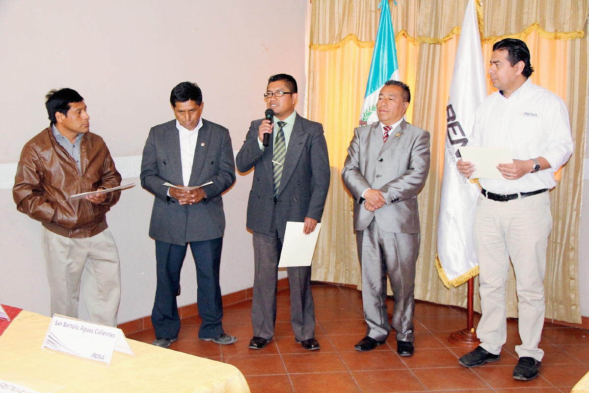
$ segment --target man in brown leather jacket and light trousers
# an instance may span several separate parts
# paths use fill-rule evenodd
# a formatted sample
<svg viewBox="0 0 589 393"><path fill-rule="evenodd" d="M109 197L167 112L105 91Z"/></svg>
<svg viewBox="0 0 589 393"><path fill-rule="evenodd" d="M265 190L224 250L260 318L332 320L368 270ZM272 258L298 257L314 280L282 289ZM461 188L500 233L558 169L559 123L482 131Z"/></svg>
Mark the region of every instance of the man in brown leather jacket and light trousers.
<svg viewBox="0 0 589 393"><path fill-rule="evenodd" d="M22 149L12 196L19 212L42 223L51 315L77 318L81 285L90 320L116 326L121 270L106 213L121 191L65 199L119 186L121 175L104 140L90 133L84 98L69 88L46 98L51 125Z"/></svg>

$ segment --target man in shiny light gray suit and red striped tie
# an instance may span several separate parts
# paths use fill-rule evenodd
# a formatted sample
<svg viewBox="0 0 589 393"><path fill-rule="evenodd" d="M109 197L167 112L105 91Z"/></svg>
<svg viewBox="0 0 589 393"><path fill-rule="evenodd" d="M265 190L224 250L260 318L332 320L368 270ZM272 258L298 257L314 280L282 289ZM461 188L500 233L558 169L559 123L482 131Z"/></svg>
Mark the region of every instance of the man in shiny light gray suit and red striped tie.
<svg viewBox="0 0 589 393"><path fill-rule="evenodd" d="M386 308L386 275L395 309L397 352L413 354L415 262L419 253L417 193L429 171L429 133L403 120L411 94L403 82L380 90L379 121L354 130L342 171L354 199L354 229L362 265L362 303L368 323L358 351L383 344L391 332Z"/></svg>

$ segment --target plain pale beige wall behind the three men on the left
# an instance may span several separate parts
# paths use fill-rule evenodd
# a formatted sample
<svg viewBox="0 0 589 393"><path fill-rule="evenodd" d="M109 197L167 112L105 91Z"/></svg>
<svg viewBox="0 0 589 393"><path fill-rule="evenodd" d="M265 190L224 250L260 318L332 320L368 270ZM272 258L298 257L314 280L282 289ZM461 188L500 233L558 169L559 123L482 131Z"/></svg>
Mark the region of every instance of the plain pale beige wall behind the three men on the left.
<svg viewBox="0 0 589 393"><path fill-rule="evenodd" d="M44 95L52 88L71 87L84 97L92 132L117 158L140 156L150 127L173 118L171 88L194 81L203 90L203 117L229 128L239 150L250 121L266 108L262 94L270 75L286 72L297 79L302 114L308 4L0 1L0 177L10 179L22 146L48 126ZM136 164L127 173L137 176ZM251 174L237 176L224 196L223 293L253 283L252 237L245 227L251 181ZM121 256L119 322L151 313L155 257L147 230L152 203L151 194L135 187L124 191L107 216ZM0 302L48 315L40 224L16 212L6 187L0 189L0 222ZM195 276L187 257L181 305L197 301Z"/></svg>

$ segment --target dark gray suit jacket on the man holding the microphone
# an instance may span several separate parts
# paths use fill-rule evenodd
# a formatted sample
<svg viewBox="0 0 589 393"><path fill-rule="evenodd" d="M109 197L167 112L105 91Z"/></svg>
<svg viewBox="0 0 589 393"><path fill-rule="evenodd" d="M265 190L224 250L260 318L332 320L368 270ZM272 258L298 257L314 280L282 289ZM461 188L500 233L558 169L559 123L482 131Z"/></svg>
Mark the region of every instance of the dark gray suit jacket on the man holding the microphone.
<svg viewBox="0 0 589 393"><path fill-rule="evenodd" d="M269 235L274 207L273 138L270 138L270 146L260 150L258 127L262 120L252 121L246 140L237 153L236 164L240 172L255 167L247 203L247 227ZM276 202L279 237L284 237L287 221L304 222L305 217L321 220L329 178L329 156L323 126L297 114Z"/></svg>

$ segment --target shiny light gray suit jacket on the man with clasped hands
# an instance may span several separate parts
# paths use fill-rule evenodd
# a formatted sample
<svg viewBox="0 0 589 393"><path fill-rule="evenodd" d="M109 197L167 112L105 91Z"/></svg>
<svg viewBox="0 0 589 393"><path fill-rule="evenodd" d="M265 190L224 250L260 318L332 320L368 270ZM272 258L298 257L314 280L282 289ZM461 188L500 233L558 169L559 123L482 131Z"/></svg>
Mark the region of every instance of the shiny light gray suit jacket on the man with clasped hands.
<svg viewBox="0 0 589 393"><path fill-rule="evenodd" d="M354 229L365 230L376 216L386 232L419 233L417 193L428 177L429 133L402 120L389 135L383 143L378 121L354 130L342 170L343 183L354 199ZM375 212L362 204L368 188L385 197L386 205Z"/></svg>

